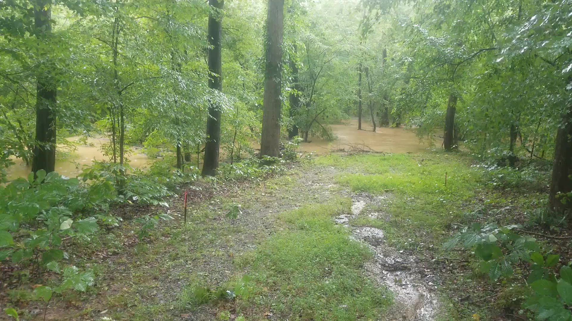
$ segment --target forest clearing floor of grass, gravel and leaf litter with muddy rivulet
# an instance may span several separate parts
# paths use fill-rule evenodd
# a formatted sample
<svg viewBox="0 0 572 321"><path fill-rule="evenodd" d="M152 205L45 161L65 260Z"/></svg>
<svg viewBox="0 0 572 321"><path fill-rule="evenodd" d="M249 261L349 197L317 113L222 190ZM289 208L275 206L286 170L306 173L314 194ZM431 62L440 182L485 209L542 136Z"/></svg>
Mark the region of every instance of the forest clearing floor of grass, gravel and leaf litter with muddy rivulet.
<svg viewBox="0 0 572 321"><path fill-rule="evenodd" d="M26 300L31 284L1 299L22 320L517 320L519 287L491 283L470 253L441 246L490 218L482 212L518 221L542 188L487 190L471 165L459 154L334 153L262 181L201 180L183 187L186 224L179 197L167 211L176 219L144 239L125 220L70 244L76 265L96 272L88 292L47 309Z"/></svg>

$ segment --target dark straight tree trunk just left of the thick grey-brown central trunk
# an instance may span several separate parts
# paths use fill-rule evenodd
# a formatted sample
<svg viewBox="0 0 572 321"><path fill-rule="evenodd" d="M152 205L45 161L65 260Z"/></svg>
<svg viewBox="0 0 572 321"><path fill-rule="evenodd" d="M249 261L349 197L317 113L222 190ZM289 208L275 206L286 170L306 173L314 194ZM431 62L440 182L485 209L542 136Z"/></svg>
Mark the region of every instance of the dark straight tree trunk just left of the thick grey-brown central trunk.
<svg viewBox="0 0 572 321"><path fill-rule="evenodd" d="M223 91L223 77L221 73L221 32L224 0L209 0L211 11L209 14L209 88ZM215 102L211 102L206 118L205 158L202 162L202 175L215 176L219 168L220 151L220 116L221 110Z"/></svg>

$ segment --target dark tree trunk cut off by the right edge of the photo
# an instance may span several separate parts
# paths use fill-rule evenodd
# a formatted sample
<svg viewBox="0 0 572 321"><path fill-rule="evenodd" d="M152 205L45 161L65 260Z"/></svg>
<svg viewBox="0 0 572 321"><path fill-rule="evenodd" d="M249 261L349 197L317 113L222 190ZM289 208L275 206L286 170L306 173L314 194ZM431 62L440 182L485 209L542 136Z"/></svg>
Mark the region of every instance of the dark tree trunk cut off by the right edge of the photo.
<svg viewBox="0 0 572 321"><path fill-rule="evenodd" d="M558 128L552 180L550 182L549 208L560 214L566 214L572 209L572 202L566 194L572 191L572 105L563 115L562 126ZM563 197L562 197L563 196ZM569 218L570 219L570 218Z"/></svg>

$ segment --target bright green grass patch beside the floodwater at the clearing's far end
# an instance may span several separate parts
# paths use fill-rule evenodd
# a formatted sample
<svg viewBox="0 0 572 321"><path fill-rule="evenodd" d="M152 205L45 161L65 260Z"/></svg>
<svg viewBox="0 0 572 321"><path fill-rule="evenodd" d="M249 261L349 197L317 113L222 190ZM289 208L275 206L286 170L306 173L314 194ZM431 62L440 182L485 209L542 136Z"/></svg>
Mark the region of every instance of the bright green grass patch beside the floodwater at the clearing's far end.
<svg viewBox="0 0 572 321"><path fill-rule="evenodd" d="M316 162L352 168L337 178L339 183L352 191L394 195L387 211L395 219L432 231L458 219L460 204L475 195L482 176L470 159L445 153L330 155Z"/></svg>

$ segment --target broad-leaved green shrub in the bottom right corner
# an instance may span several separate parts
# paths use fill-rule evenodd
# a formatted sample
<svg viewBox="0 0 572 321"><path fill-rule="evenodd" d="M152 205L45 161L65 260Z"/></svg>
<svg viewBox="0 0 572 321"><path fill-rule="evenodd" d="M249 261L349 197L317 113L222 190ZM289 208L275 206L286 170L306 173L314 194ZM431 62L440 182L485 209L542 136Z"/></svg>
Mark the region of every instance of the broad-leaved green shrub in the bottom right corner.
<svg viewBox="0 0 572 321"><path fill-rule="evenodd" d="M562 266L557 274L560 255L542 254L536 239L518 235L514 232L517 228L518 225L473 223L445 243L444 248L462 243L464 248L473 249L481 270L493 281L509 278L514 266L526 264L530 271L526 283L533 292L522 307L531 311L535 320L572 319L567 308L572 304L572 268Z"/></svg>

